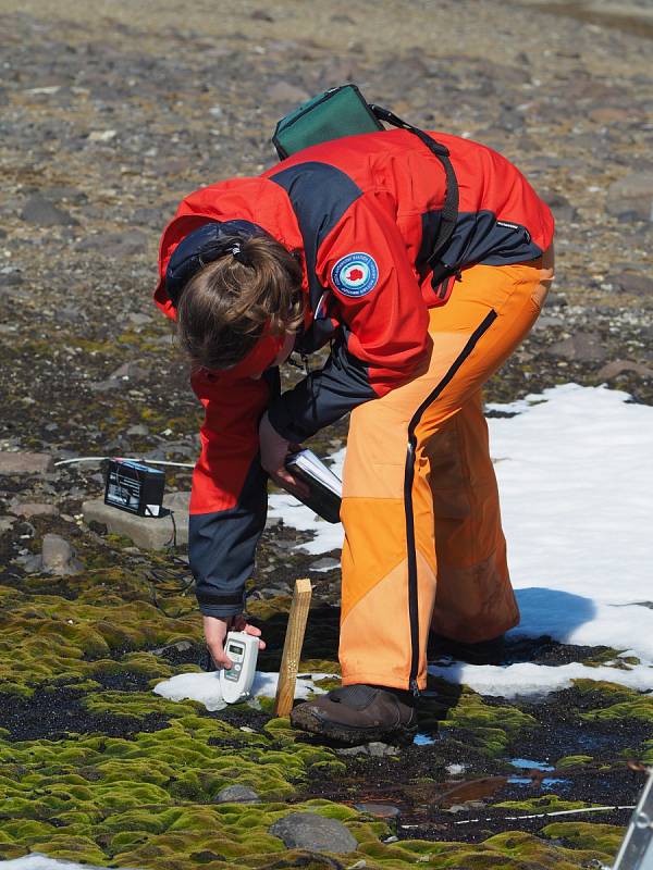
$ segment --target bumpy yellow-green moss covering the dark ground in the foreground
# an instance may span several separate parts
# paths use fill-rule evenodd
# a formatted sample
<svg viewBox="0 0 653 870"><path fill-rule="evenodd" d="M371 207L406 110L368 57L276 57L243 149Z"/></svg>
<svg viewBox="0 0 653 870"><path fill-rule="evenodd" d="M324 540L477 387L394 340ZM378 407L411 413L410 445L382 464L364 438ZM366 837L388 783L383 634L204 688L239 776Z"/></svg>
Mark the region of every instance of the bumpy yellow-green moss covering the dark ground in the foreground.
<svg viewBox="0 0 653 870"><path fill-rule="evenodd" d="M14 720L0 732L2 858L41 852L152 870L292 866L298 853L286 852L268 830L294 809L340 819L352 830L359 845L346 866L366 860L368 868L419 862L432 868L566 870L614 854L620 829L575 821L545 825L540 835L506 832L471 844L448 837L383 843L394 833L391 823L310 797L311 781L337 782L349 775L348 762L334 748L297 739L287 720L269 719L269 700L262 699L262 712L251 711L250 717L246 707L238 708L236 721L151 692L161 679L197 670L194 663L173 666L152 651L178 641L198 645L194 601L172 575L152 596L148 571L128 567L122 556L124 542L98 542L85 544L86 572L65 583L36 575L20 589L0 586L0 692L10 708L12 703L25 709L44 705L35 721L47 732L38 739L21 738L21 723ZM163 570L165 559L152 555L148 564ZM273 634L282 631L287 606L281 597L257 602L255 609ZM318 657L324 637L317 632L316 644L309 637L304 669L337 670L334 650L331 659ZM432 749L435 759L441 754L485 759L484 765L501 769L515 741L537 735L541 728L518 705L484 699L441 681L432 681L430 689L438 697L424 700L421 726L441 734ZM651 720L650 699L619 686L582 682L575 697L579 722ZM53 717L49 732L48 717ZM247 721L251 730L244 731ZM651 751L650 744L643 749ZM589 755L569 755L558 767L575 770L594 762ZM403 770L401 758L387 763L410 782L411 771ZM415 771L422 787L436 779ZM261 803L215 804L220 790L234 782L254 787ZM489 806L504 813L588 806L558 795L501 796ZM282 857L288 863L279 863Z"/></svg>

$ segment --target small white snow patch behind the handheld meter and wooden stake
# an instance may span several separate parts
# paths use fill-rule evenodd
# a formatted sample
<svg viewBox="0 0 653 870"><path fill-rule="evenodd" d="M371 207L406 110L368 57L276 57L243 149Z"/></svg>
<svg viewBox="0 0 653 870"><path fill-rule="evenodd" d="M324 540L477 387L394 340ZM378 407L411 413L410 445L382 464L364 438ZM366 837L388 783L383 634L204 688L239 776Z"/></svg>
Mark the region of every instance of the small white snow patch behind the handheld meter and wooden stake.
<svg viewBox="0 0 653 870"><path fill-rule="evenodd" d="M311 674L310 678L298 676L295 687L295 697L307 698L311 692L318 695L324 694L324 689L320 688L316 683L332 675L333 674L315 673ZM276 695L278 683L279 673L257 671L251 686L252 697L273 698ZM211 671L209 673L178 673L176 676L171 676L170 680L157 683L153 691L157 695L162 695L162 697L169 698L170 700L198 700L205 705L207 710L222 710L226 707L226 703L222 699L222 692L220 691L219 671Z"/></svg>

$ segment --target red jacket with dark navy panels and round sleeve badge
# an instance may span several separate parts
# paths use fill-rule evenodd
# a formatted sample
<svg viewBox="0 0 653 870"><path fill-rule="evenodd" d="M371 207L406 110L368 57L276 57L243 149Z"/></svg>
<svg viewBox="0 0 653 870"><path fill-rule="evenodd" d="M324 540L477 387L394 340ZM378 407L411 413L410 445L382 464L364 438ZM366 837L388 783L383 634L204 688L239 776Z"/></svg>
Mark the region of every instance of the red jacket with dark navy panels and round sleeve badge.
<svg viewBox="0 0 653 870"><path fill-rule="evenodd" d="M482 145L433 136L449 149L459 187L458 221L443 262L455 272L539 257L552 241L553 219L519 171ZM411 133L387 130L315 146L259 177L197 190L165 228L156 301L169 316L174 308L164 276L176 245L208 221L244 219L303 253L303 349L335 339L324 366L281 396L272 371L261 381L230 372L193 378L206 409L189 540L202 612L225 617L243 608L266 517L258 462L266 407L272 425L300 442L401 385L422 361L428 309L446 298L431 286L427 262L444 197L440 161Z"/></svg>

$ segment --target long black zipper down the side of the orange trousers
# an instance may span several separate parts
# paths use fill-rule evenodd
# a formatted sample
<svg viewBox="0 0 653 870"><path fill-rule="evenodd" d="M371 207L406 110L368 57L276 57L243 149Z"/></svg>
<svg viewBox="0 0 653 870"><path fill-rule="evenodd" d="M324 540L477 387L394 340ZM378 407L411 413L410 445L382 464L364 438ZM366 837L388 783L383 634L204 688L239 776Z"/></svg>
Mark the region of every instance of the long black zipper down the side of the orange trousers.
<svg viewBox="0 0 653 870"><path fill-rule="evenodd" d="M415 432L427 408L440 396L442 390L451 383L452 378L469 357L478 340L496 320L496 311L491 309L473 333L453 364L419 406L408 424L408 444L406 446L406 467L404 471L404 509L406 513L406 556L408 567L408 620L410 623L410 675L408 685L415 696L419 695L417 673L419 670L419 596L417 585L417 548L415 545L415 514L412 511L412 482L415 480L415 459L417 456L417 437Z"/></svg>

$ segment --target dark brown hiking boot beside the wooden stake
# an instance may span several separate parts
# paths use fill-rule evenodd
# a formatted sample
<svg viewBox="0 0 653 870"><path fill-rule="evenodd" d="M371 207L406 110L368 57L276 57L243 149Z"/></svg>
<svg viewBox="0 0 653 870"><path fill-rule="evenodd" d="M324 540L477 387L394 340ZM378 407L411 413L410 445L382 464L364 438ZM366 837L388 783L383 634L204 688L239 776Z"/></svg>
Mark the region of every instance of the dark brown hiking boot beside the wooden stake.
<svg viewBox="0 0 653 870"><path fill-rule="evenodd" d="M294 728L342 743L411 739L417 731L408 692L356 684L334 688L291 712Z"/></svg>

